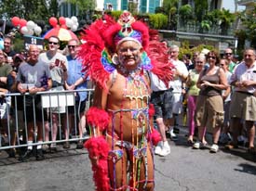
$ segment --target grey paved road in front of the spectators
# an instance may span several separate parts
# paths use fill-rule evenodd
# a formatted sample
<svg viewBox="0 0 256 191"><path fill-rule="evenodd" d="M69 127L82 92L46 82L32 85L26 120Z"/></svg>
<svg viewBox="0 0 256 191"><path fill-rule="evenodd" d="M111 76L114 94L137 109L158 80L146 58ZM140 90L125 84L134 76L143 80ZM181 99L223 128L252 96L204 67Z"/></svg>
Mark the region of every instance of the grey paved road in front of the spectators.
<svg viewBox="0 0 256 191"><path fill-rule="evenodd" d="M155 156L155 190L255 191L256 157L245 149L210 154L186 144L184 133L169 141L171 154ZM20 162L0 155L0 191L93 191L86 150L60 150L47 159Z"/></svg>

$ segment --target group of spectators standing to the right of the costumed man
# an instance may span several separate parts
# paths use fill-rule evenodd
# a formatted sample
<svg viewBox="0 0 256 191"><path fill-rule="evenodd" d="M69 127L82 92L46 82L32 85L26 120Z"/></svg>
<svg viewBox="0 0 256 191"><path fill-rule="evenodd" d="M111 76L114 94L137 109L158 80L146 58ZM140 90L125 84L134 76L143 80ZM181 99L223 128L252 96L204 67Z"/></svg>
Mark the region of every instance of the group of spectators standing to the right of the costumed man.
<svg viewBox="0 0 256 191"><path fill-rule="evenodd" d="M223 55L204 49L179 60L179 47L169 45L168 55L175 65L174 80L162 88L152 77L155 122L162 137L155 154L170 153L167 135L176 141L182 125L188 127L187 143L194 149L210 144L209 151L217 153L220 145L247 146L255 154L255 50L245 49L241 61L229 47ZM207 140L206 134L212 138Z"/></svg>

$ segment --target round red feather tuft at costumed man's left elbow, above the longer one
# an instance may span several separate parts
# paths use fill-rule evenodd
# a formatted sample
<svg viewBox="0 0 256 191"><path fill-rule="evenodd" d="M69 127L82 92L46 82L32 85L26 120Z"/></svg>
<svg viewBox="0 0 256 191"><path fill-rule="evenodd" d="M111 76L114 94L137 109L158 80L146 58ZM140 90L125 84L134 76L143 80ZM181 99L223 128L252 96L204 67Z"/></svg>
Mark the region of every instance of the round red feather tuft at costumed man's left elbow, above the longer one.
<svg viewBox="0 0 256 191"><path fill-rule="evenodd" d="M109 114L101 108L91 107L87 112L88 125L99 127L100 131L104 131L110 121Z"/></svg>

